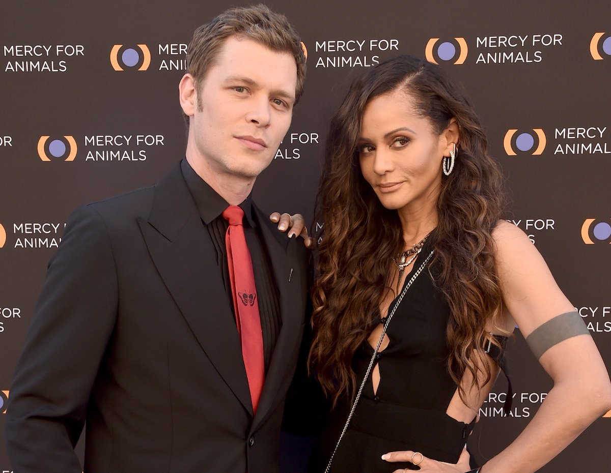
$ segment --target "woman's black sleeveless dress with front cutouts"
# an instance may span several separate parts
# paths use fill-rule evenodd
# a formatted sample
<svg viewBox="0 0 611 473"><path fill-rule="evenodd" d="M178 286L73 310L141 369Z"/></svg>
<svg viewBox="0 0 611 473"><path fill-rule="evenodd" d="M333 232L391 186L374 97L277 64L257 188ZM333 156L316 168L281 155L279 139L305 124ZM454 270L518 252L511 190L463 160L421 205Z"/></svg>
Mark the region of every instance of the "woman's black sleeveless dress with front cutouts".
<svg viewBox="0 0 611 473"><path fill-rule="evenodd" d="M431 247L429 238L405 281L411 279ZM429 270L427 266L416 278L389 323L389 344L378 353L378 389L374 394L370 376L335 453L333 473L419 469L409 462L381 460L384 453L397 450L414 450L448 463L458 461L474 422L464 424L445 413L456 391L446 364L450 308L442 292L434 286ZM395 301L390 308L394 305ZM373 348L367 341L354 355L357 386L372 355ZM324 472L350 408L350 400L344 399L329 414L309 472Z"/></svg>

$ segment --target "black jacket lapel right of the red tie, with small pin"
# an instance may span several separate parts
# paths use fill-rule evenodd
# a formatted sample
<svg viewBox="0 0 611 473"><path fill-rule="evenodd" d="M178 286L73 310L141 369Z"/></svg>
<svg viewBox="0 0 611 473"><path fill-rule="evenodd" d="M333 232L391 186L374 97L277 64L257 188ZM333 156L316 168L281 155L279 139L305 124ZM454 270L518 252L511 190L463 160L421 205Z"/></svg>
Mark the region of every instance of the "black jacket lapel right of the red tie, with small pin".
<svg viewBox="0 0 611 473"><path fill-rule="evenodd" d="M268 374L261 400L257 408L252 429L254 430L265 419L266 414L280 401L278 392L283 392L283 384L290 383L294 366L290 354L301 343L301 326L303 323L304 291L302 291L302 264L297 255L296 238L288 239L280 233L267 215L253 206L261 226L263 243L269 255L274 281L280 295L280 317L282 329L274 348L269 364ZM287 363L290 362L290 363Z"/></svg>

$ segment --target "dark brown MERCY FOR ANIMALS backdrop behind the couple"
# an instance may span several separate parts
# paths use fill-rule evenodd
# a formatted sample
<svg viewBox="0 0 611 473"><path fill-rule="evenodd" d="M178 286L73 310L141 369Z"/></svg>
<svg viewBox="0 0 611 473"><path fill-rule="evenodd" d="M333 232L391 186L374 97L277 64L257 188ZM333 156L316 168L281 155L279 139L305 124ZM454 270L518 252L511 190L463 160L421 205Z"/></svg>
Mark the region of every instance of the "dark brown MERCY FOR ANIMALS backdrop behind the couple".
<svg viewBox="0 0 611 473"><path fill-rule="evenodd" d="M192 32L250 3L0 1L1 473L12 472L2 414L13 369L68 214L155 182L184 156L178 81ZM295 24L308 71L255 186L260 206L312 218L328 120L352 79L397 54L426 57L464 84L508 179L508 220L541 251L611 364L609 1L267 3ZM552 386L519 330L509 358L513 409L503 414L500 378L469 439L482 461ZM610 435L611 413L541 471L607 471Z"/></svg>

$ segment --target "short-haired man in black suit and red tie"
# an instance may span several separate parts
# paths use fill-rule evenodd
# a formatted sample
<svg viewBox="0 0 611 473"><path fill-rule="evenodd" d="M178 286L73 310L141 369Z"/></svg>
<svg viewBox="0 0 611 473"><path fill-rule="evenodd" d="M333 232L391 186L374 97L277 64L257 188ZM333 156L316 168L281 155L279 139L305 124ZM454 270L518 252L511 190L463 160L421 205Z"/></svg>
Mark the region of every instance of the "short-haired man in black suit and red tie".
<svg viewBox="0 0 611 473"><path fill-rule="evenodd" d="M49 264L7 413L15 471L80 472L85 421L86 472L277 471L307 255L249 196L304 74L263 5L194 33L186 161L77 209Z"/></svg>

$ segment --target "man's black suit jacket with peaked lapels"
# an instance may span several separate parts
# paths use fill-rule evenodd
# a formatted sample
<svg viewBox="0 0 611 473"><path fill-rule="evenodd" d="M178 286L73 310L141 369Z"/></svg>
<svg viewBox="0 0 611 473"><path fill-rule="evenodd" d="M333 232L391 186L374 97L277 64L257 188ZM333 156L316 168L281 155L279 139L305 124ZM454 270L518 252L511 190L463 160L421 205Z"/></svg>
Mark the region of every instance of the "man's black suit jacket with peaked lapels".
<svg viewBox="0 0 611 473"><path fill-rule="evenodd" d="M49 263L7 411L15 471L271 473L301 342L307 251L256 207L282 330L257 414L222 273L180 166L77 209Z"/></svg>

